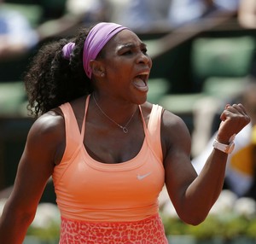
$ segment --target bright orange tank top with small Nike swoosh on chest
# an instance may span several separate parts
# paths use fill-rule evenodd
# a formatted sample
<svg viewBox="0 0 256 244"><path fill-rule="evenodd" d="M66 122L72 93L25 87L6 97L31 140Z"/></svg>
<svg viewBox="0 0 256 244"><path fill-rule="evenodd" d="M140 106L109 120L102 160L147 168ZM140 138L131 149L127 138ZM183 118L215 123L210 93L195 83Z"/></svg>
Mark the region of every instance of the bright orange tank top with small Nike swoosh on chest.
<svg viewBox="0 0 256 244"><path fill-rule="evenodd" d="M158 196L165 181L160 144L162 107L153 106L148 127L143 120L145 138L137 156L119 164L92 159L83 143L85 122L80 132L71 105L61 105L61 111L66 149L53 173L61 218L103 223L139 221L157 214Z"/></svg>

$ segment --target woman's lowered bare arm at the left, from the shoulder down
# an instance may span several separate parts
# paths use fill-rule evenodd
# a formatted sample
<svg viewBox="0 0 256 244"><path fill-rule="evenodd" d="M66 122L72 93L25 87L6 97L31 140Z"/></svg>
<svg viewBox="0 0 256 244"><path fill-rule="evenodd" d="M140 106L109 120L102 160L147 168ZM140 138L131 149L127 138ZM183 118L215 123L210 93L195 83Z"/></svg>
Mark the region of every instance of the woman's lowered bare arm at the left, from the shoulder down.
<svg viewBox="0 0 256 244"><path fill-rule="evenodd" d="M30 130L20 159L15 185L0 218L0 243L20 244L32 223L38 201L59 159L64 122L55 113L44 114Z"/></svg>

